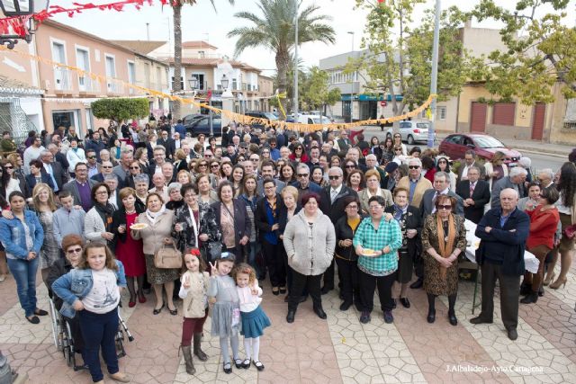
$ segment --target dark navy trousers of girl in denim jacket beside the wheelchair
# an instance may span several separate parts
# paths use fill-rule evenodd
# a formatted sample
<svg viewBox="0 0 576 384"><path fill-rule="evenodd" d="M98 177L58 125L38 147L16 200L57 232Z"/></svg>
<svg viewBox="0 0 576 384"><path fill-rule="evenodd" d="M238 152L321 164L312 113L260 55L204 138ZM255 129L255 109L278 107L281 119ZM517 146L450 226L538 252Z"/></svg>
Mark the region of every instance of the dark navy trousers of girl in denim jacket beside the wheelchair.
<svg viewBox="0 0 576 384"><path fill-rule="evenodd" d="M88 364L92 381L103 380L100 358L98 356L102 347L102 356L108 373L114 374L118 369L118 356L114 337L118 332L118 308L108 313L98 315L87 310L76 312L80 316L80 328L84 335L84 362Z"/></svg>

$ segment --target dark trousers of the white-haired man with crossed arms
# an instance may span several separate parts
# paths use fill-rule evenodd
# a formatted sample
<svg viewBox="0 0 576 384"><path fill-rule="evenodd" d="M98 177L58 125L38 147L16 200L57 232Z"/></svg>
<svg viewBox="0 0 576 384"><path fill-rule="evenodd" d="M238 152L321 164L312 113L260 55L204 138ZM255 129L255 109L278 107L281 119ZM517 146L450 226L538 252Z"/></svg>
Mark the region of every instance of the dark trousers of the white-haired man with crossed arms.
<svg viewBox="0 0 576 384"><path fill-rule="evenodd" d="M500 312L506 329L518 326L518 299L520 276L502 273L502 266L485 262L482 264L482 311L479 317L491 321L494 315L494 287L500 281Z"/></svg>

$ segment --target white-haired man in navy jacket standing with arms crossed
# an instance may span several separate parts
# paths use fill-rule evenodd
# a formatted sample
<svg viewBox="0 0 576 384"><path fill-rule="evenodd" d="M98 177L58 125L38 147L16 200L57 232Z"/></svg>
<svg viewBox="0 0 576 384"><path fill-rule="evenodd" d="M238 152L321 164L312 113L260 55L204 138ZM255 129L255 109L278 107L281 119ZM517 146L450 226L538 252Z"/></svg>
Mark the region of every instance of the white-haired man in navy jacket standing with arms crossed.
<svg viewBox="0 0 576 384"><path fill-rule="evenodd" d="M492 208L476 227L481 238L476 262L482 268L482 311L470 319L472 324L491 324L494 316L494 287L500 283L502 323L510 340L518 338L518 299L520 276L526 270L524 251L530 230L530 218L518 210L518 191L500 192L500 207Z"/></svg>

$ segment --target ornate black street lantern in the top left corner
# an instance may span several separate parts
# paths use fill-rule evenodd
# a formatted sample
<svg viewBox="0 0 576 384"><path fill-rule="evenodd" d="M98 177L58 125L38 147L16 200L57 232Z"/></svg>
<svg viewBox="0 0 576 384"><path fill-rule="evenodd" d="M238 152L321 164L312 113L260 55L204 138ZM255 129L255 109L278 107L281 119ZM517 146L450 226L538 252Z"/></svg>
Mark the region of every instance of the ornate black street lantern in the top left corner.
<svg viewBox="0 0 576 384"><path fill-rule="evenodd" d="M6 17L29 16L47 10L48 5L49 0L0 0L0 8ZM26 34L23 36L18 34L0 35L0 44L5 44L8 49L14 49L14 45L18 43L18 40L31 42L32 34L35 32L32 28L32 23L34 21L30 17L27 21L22 20L22 22L28 22L28 27L25 28Z"/></svg>

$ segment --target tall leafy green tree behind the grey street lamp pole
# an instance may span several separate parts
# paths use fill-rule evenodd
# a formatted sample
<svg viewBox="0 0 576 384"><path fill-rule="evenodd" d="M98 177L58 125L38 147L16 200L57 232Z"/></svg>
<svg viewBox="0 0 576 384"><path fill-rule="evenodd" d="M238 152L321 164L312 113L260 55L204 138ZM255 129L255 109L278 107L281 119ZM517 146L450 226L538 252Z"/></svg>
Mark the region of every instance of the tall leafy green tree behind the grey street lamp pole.
<svg viewBox="0 0 576 384"><path fill-rule="evenodd" d="M366 88L392 96L394 115L406 106L428 99L434 34L434 9L426 11L419 26L412 28L412 14L425 0L389 0L374 5L370 0L356 0L357 7L368 8L362 46L368 53L350 59L346 71L365 70ZM459 38L459 28L467 15L450 7L440 18L438 57L438 100L460 93L472 67L471 58ZM397 95L402 100L397 100Z"/></svg>

